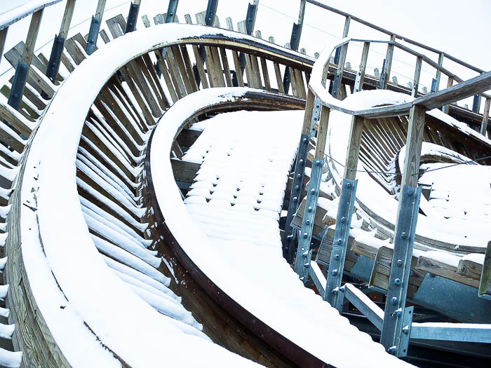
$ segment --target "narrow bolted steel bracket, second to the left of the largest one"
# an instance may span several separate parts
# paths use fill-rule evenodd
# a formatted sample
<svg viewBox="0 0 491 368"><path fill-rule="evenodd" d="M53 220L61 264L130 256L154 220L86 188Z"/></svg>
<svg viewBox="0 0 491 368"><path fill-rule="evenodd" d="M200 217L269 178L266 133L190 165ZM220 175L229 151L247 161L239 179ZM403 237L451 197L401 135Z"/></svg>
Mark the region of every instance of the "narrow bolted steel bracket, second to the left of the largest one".
<svg viewBox="0 0 491 368"><path fill-rule="evenodd" d="M297 259L295 261L295 272L304 283L309 278L310 268L310 243L312 240L312 229L314 229L314 218L318 200L319 186L321 186L321 175L324 160L314 158L310 175L309 190L305 202L304 218L302 220L302 230L298 240Z"/></svg>

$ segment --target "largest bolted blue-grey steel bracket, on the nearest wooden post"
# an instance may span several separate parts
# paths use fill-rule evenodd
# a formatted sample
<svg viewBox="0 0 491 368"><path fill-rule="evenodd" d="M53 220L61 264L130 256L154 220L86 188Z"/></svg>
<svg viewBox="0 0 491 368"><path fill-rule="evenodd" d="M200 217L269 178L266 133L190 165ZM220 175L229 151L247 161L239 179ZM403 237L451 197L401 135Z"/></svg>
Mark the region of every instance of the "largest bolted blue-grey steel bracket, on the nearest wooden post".
<svg viewBox="0 0 491 368"><path fill-rule="evenodd" d="M408 280L411 267L412 245L415 241L417 215L421 187L405 185L399 198L399 210L394 240L389 289L384 311L384 325L380 343L386 350L398 355L403 334L403 311L405 308Z"/></svg>

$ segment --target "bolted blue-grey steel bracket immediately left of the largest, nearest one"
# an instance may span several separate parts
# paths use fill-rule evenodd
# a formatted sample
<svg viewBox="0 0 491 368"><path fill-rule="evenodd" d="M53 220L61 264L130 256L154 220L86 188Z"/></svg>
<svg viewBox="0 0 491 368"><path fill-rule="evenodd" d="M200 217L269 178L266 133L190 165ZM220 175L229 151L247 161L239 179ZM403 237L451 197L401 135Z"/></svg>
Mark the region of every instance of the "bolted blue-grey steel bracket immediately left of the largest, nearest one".
<svg viewBox="0 0 491 368"><path fill-rule="evenodd" d="M332 240L332 251L329 261L328 280L325 285L324 300L331 306L339 302L339 287L343 275L344 259L348 247L349 226L353 216L353 206L356 198L356 185L358 180L344 179L337 207L336 229Z"/></svg>

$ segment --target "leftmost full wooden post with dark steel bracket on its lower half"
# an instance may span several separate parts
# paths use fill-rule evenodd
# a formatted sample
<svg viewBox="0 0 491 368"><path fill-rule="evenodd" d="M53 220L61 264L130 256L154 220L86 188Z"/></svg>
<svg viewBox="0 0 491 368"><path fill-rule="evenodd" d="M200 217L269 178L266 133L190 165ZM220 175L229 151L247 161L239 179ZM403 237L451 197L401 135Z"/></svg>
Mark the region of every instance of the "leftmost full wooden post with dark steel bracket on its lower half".
<svg viewBox="0 0 491 368"><path fill-rule="evenodd" d="M12 82L11 93L8 96L8 104L15 110L19 109L20 100L22 100L22 95L24 94L27 74L29 73L32 55L34 54L34 45L39 32L39 26L41 25L41 18L43 17L43 10L44 8L41 8L32 15L24 50L22 51L22 56L17 64L17 68L15 68L15 76Z"/></svg>

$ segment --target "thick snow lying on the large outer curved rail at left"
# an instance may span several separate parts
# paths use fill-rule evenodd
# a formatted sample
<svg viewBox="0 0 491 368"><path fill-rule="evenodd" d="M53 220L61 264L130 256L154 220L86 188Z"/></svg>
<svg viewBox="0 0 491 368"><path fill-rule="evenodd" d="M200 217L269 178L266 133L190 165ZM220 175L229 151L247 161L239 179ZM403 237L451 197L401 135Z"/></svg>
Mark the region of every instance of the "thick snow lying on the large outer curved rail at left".
<svg viewBox="0 0 491 368"><path fill-rule="evenodd" d="M199 36L200 31L227 33L206 27L162 25L132 32L97 50L58 89L32 142L21 201L32 200L31 189L38 185L39 191L36 213L28 209L21 213L27 217L21 222L22 254L34 297L43 301L39 313L74 367L119 366L114 354L134 367L161 365L163 357L169 366L253 364L208 339L187 334L182 325L161 315L118 278L94 245L77 193L76 152L85 116L114 70L135 55L164 46L162 34L171 42ZM80 93L80 86L84 86L84 93ZM131 318L135 315L137 318Z"/></svg>

